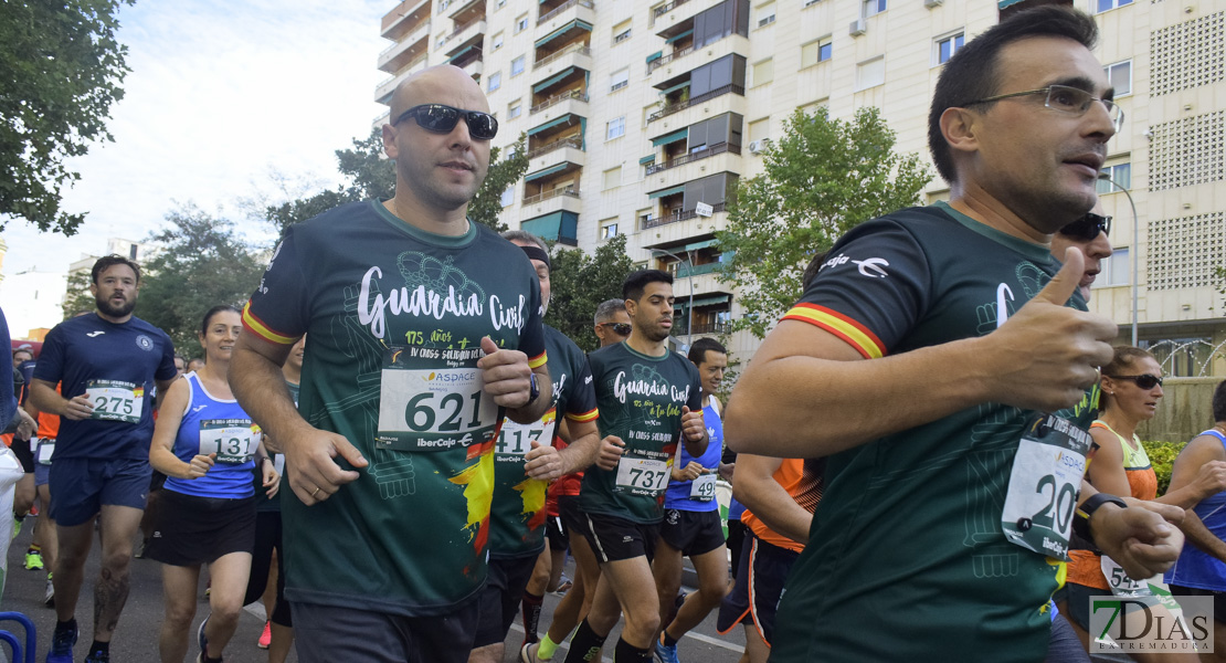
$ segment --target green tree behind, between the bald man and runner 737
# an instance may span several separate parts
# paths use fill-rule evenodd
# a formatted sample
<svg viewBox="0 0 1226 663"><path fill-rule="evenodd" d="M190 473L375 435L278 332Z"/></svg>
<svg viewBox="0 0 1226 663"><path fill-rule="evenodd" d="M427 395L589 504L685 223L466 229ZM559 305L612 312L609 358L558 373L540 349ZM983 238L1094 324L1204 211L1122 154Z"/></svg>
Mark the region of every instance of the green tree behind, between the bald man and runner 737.
<svg viewBox="0 0 1226 663"><path fill-rule="evenodd" d="M580 249L557 250L550 265L546 324L586 352L601 347L592 331L596 306L622 297L622 283L634 271L634 261L625 252L625 235L600 245L595 255Z"/></svg>

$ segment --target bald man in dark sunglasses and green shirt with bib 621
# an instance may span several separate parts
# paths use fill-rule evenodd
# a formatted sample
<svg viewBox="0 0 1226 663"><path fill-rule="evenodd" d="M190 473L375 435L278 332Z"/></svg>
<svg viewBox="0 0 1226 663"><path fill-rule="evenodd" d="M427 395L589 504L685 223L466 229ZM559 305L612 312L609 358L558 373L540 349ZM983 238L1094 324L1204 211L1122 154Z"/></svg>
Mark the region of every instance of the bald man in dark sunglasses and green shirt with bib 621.
<svg viewBox="0 0 1226 663"><path fill-rule="evenodd" d="M459 67L402 82L383 127L395 196L289 228L243 311L230 384L297 496L282 517L299 661L472 648L495 434L552 402L537 273L466 216L488 109ZM280 366L308 332L295 408Z"/></svg>

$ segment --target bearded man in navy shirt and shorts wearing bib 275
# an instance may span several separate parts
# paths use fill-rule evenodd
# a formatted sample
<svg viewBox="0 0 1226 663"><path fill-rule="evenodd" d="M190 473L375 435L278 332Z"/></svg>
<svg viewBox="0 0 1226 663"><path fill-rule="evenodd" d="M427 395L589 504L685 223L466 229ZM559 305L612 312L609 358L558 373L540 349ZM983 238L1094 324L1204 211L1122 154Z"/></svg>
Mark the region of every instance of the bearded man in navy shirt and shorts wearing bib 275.
<svg viewBox="0 0 1226 663"><path fill-rule="evenodd" d="M93 591L93 642L87 662L110 659L110 638L128 600L132 536L150 484L153 398L166 395L174 346L162 330L135 317L140 267L118 255L98 259L91 273L97 315L65 320L47 335L34 368L31 398L60 417L49 475L56 523L55 631L48 663L71 663L85 561L102 539L102 570ZM64 396L55 385L63 382Z"/></svg>

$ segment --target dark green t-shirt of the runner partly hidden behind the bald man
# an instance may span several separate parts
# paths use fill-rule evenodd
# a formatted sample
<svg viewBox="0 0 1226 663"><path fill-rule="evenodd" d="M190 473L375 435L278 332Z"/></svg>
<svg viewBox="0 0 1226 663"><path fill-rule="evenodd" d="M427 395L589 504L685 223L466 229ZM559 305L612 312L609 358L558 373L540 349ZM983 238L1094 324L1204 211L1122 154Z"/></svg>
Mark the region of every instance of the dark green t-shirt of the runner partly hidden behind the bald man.
<svg viewBox="0 0 1226 663"><path fill-rule="evenodd" d="M530 479L524 455L532 440L553 444L558 414L571 422L596 419L596 390L587 357L574 341L546 325L544 347L553 380L553 407L533 424L503 419L494 450L494 506L489 516L489 556L536 556L544 549L544 495L549 482Z"/></svg>

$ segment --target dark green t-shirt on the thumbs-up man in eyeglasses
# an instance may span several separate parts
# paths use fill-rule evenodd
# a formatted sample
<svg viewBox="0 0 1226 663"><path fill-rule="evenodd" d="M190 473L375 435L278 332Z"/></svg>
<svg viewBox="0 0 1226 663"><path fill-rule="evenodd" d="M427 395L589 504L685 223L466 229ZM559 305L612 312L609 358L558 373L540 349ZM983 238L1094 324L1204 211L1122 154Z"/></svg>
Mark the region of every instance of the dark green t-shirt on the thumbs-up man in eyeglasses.
<svg viewBox="0 0 1226 663"><path fill-rule="evenodd" d="M840 239L785 319L873 360L991 333L1058 267L1046 246L948 206L902 210ZM1080 294L1070 304L1085 308ZM1089 406L1059 414L1087 426ZM813 425L837 415L815 412ZM1037 415L984 403L831 456L771 661L1042 661L1060 564L1002 528Z"/></svg>

